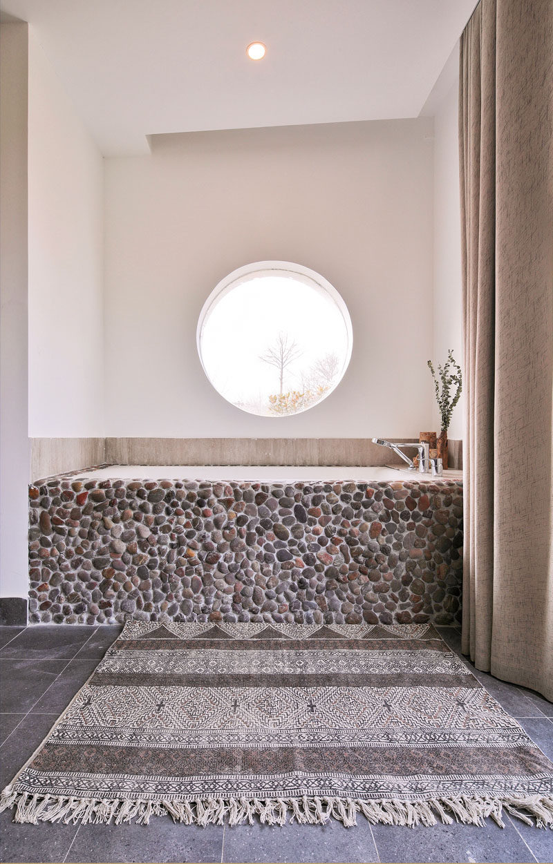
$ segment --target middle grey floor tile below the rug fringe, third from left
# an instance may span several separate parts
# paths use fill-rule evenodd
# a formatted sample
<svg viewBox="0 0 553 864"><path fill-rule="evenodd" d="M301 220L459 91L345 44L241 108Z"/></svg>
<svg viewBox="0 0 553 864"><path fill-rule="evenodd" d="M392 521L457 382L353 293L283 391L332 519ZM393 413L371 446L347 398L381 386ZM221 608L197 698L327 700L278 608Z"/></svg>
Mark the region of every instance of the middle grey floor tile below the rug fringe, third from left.
<svg viewBox="0 0 553 864"><path fill-rule="evenodd" d="M357 816L357 827L326 825L235 825L225 830L223 861L378 861L370 824Z"/></svg>

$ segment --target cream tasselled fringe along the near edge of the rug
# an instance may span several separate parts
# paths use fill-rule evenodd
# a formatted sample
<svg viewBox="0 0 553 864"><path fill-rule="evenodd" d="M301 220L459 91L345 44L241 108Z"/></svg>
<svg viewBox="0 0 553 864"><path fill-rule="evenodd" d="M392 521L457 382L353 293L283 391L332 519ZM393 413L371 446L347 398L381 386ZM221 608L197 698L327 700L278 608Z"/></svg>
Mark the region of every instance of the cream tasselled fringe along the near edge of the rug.
<svg viewBox="0 0 553 864"><path fill-rule="evenodd" d="M14 822L37 825L48 823L87 823L116 825L136 822L147 825L151 816L169 813L174 822L186 825L222 825L228 816L230 825L254 823L254 816L267 825L285 825L286 817L300 825L323 825L337 819L346 828L357 825L357 813L376 825L435 825L457 822L484 825L491 816L505 828L502 811L516 816L528 825L553 829L553 797L512 795L501 798L462 795L454 798L428 798L428 801L363 801L360 798L296 797L296 798L196 798L181 801L163 798L160 801L129 801L112 798L77 798L39 795L17 791L6 786L0 797L0 812L16 807ZM533 820L532 821L532 817Z"/></svg>

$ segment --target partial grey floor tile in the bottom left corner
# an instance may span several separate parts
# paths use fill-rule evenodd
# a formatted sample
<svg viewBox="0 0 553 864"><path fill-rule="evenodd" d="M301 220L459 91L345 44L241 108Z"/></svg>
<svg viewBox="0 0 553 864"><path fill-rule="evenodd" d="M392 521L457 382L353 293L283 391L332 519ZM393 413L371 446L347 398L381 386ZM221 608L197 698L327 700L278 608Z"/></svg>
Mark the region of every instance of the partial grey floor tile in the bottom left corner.
<svg viewBox="0 0 553 864"><path fill-rule="evenodd" d="M0 861L63 861L75 825L16 825L12 817L8 810L0 815Z"/></svg>

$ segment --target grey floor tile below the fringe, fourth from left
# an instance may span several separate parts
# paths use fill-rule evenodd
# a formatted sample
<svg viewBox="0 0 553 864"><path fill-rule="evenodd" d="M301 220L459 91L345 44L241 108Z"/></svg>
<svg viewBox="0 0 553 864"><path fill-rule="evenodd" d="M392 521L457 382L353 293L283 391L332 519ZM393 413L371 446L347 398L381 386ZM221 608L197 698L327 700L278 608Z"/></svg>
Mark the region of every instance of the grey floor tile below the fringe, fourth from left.
<svg viewBox="0 0 553 864"><path fill-rule="evenodd" d="M381 861L389 864L410 861L531 861L528 848L511 823L505 819L501 829L486 819L485 827L478 825L433 825L426 828L403 828L395 825L373 825L376 848Z"/></svg>

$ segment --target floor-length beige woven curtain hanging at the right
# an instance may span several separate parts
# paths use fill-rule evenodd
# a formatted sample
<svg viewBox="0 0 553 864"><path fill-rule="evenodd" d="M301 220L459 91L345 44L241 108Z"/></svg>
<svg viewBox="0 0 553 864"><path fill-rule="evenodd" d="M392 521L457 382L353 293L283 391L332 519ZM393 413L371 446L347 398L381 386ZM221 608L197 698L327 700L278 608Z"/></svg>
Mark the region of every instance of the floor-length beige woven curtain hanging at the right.
<svg viewBox="0 0 553 864"><path fill-rule="evenodd" d="M460 41L463 651L553 701L553 0Z"/></svg>

